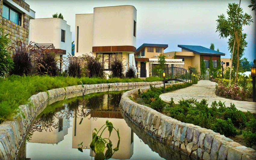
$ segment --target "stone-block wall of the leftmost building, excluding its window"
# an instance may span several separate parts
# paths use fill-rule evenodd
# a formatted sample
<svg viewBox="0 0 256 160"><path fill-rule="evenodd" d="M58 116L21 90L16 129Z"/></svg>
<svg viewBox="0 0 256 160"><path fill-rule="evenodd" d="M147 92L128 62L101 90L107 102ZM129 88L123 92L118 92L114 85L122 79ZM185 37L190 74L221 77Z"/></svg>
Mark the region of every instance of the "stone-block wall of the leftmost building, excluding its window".
<svg viewBox="0 0 256 160"><path fill-rule="evenodd" d="M12 0L13 2L15 2L17 5L19 5L20 7L24 8L25 10L27 10L28 12L30 11L30 6L24 2L23 0ZM28 36L29 36L29 15L27 15L26 13L22 14L22 22L21 22L21 26L19 26L18 24L11 22L10 20L7 20L5 18L2 17L2 7L3 7L3 0L1 0L0 2L0 27L2 28L2 32L1 35L6 35L6 34L10 34L8 35L8 38L10 38L11 40L11 46L14 48L17 48L16 45L16 40L21 40L21 42L24 41L25 44L28 44Z"/></svg>

